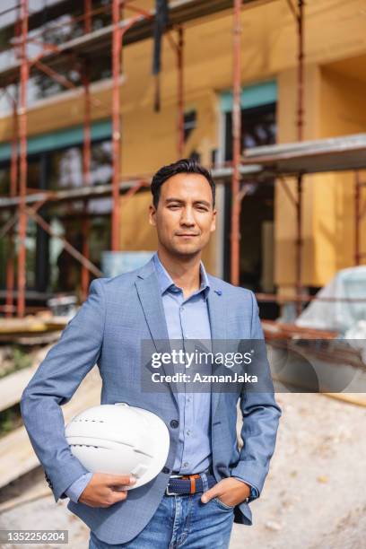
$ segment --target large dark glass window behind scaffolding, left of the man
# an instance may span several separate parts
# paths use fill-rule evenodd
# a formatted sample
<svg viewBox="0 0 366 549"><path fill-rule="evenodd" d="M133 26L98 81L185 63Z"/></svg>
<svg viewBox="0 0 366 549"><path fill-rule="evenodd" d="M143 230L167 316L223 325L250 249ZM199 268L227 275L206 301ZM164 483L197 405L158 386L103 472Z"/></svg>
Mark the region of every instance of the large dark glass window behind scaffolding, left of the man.
<svg viewBox="0 0 366 549"><path fill-rule="evenodd" d="M2 194L9 193L10 162L0 169ZM91 185L109 184L112 179L112 146L109 139L92 143ZM28 158L27 187L31 189L66 190L83 186L83 145L32 154ZM39 214L59 236L65 237L82 252L83 218L90 220L90 259L100 268L101 250L110 245L110 196L83 200L47 202ZM11 213L2 211L2 224ZM15 235L18 234L17 227ZM0 239L0 262L6 264L8 238ZM18 246L18 237L15 237ZM15 254L16 254L15 249ZM75 292L80 287L81 264L63 249L56 236L50 236L29 218L26 237L26 288L38 292ZM15 264L16 276L16 264ZM16 280L16 278L15 278ZM0 273L0 288L5 288L5 269Z"/></svg>

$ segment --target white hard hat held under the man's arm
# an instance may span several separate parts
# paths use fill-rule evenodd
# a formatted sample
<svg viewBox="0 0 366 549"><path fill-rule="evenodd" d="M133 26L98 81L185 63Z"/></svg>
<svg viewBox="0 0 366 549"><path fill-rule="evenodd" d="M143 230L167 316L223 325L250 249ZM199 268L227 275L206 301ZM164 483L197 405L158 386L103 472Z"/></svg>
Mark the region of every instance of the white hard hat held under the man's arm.
<svg viewBox="0 0 366 549"><path fill-rule="evenodd" d="M137 488L161 472L170 436L161 418L125 403L99 405L76 415L65 427L74 456L92 473L135 475Z"/></svg>

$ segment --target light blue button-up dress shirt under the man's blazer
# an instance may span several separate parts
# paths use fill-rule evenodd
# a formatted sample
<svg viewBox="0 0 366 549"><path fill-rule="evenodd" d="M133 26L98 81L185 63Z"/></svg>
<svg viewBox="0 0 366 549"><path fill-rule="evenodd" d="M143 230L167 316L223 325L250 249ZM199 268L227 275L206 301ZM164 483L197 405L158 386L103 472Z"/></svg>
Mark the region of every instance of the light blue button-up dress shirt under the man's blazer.
<svg viewBox="0 0 366 549"><path fill-rule="evenodd" d="M183 291L161 264L157 252L154 266L161 289L168 335L170 340L183 342L189 339L211 340L211 327L207 308L210 283L205 266L200 264L200 288L187 299ZM182 475L205 471L212 461L211 449L211 392L177 393L179 404L179 443L173 470ZM81 493L92 479L92 473L78 478L65 491L72 501L78 501ZM239 479L240 480L240 479Z"/></svg>

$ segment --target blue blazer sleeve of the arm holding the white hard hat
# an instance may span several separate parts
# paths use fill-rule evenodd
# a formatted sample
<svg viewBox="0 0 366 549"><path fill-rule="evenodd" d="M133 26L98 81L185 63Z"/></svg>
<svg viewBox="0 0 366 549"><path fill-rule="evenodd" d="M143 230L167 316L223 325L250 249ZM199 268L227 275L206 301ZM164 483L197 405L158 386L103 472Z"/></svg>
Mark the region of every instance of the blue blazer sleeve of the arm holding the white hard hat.
<svg viewBox="0 0 366 549"><path fill-rule="evenodd" d="M55 501L65 498L66 488L88 473L69 449L60 406L71 399L99 360L105 314L103 283L95 279L87 301L67 324L22 393L22 419Z"/></svg>

